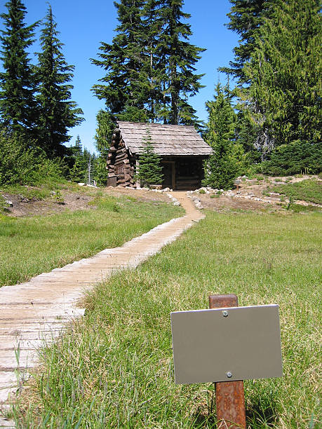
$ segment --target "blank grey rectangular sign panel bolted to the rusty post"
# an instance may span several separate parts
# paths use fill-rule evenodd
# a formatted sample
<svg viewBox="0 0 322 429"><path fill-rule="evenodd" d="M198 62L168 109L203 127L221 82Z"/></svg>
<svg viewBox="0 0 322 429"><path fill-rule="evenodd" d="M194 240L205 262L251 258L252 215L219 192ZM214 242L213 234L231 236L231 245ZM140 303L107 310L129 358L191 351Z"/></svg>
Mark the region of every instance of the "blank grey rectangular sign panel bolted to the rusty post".
<svg viewBox="0 0 322 429"><path fill-rule="evenodd" d="M171 313L175 383L283 376L279 306Z"/></svg>

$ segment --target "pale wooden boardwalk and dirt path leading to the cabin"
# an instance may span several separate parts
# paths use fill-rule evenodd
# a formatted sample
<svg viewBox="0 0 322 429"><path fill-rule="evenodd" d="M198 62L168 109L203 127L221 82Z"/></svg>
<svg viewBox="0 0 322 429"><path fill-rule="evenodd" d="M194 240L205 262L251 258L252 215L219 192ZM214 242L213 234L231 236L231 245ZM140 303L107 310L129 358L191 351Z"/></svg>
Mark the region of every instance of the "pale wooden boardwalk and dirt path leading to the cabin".
<svg viewBox="0 0 322 429"><path fill-rule="evenodd" d="M5 409L8 399L14 399L28 376L28 368L38 362L37 348L43 341L52 341L68 320L83 315L76 304L84 290L115 271L136 267L204 217L185 192L172 194L186 210L184 217L156 226L121 247L102 250L94 257L37 275L20 285L1 287L0 407ZM12 421L0 416L0 428L13 427Z"/></svg>

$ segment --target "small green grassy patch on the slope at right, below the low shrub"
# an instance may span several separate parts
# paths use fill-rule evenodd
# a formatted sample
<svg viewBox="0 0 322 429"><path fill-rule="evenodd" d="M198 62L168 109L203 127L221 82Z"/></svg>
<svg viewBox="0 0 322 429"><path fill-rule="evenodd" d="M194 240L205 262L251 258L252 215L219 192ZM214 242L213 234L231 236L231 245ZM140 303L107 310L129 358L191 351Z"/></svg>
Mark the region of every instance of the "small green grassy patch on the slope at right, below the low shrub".
<svg viewBox="0 0 322 429"><path fill-rule="evenodd" d="M293 200L303 200L309 203L322 204L322 182L315 179L302 180L283 185L272 186L267 189L278 192Z"/></svg>

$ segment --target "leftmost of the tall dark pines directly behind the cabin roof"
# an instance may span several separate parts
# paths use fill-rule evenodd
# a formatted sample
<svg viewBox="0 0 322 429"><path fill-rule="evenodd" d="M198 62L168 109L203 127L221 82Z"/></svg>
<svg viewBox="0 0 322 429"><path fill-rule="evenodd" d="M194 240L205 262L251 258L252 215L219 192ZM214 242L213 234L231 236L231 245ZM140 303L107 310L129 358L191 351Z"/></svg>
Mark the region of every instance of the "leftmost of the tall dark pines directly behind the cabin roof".
<svg viewBox="0 0 322 429"><path fill-rule="evenodd" d="M93 92L105 100L112 118L123 121L147 121L145 101L147 96L140 81L142 68L142 22L143 0L121 0L114 2L119 25L112 44L101 43L98 60L93 64L107 71L93 86Z"/></svg>

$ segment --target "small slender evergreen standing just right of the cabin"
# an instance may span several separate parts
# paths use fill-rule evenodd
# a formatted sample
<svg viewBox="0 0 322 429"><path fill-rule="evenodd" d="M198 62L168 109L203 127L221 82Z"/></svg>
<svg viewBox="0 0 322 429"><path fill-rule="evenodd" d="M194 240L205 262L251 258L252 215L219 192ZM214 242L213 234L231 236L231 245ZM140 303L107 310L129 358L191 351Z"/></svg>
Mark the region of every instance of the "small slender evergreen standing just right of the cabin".
<svg viewBox="0 0 322 429"><path fill-rule="evenodd" d="M207 102L209 118L205 135L213 154L205 161L203 184L217 189L231 189L238 175L236 156L242 156L241 145L234 153L236 114L228 88L217 84L215 100ZM239 152L239 153L238 153Z"/></svg>

